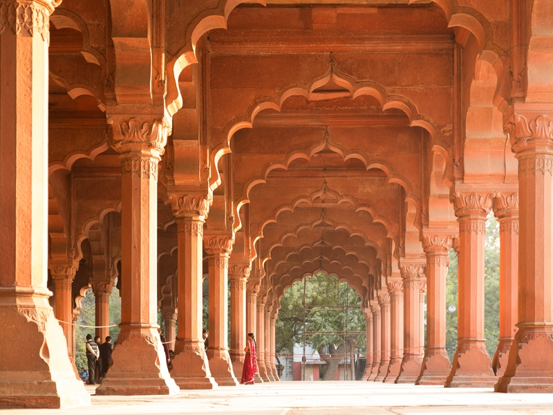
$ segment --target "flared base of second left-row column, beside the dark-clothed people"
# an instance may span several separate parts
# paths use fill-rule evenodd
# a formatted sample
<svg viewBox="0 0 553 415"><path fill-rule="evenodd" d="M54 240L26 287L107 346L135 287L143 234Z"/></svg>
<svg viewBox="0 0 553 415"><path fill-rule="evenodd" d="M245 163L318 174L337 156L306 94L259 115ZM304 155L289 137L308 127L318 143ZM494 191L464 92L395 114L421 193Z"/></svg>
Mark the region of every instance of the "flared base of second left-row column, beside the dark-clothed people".
<svg viewBox="0 0 553 415"><path fill-rule="evenodd" d="M157 329L149 324L121 324L111 360L96 395L172 395L179 391L165 365Z"/></svg>

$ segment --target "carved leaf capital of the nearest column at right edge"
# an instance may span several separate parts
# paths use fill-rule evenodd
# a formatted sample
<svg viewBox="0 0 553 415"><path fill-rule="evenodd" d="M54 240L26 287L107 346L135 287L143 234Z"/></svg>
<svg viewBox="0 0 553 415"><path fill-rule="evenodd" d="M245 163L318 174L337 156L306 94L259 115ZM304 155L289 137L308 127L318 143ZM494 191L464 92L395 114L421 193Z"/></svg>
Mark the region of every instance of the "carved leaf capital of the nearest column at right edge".
<svg viewBox="0 0 553 415"><path fill-rule="evenodd" d="M503 118L503 126L517 158L525 151L553 154L553 104L514 102ZM552 174L551 158L545 156L539 161L543 163L525 163L523 170ZM521 172L520 158L518 172Z"/></svg>

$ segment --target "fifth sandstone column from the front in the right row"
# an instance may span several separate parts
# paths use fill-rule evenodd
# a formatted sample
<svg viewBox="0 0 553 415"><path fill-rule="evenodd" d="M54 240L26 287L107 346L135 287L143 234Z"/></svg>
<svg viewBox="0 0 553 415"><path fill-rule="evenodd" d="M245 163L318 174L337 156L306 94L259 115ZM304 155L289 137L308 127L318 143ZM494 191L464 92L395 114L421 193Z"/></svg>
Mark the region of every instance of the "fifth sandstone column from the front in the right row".
<svg viewBox="0 0 553 415"><path fill-rule="evenodd" d="M390 293L390 364L384 383L394 383L400 376L403 358L403 282L388 282Z"/></svg>

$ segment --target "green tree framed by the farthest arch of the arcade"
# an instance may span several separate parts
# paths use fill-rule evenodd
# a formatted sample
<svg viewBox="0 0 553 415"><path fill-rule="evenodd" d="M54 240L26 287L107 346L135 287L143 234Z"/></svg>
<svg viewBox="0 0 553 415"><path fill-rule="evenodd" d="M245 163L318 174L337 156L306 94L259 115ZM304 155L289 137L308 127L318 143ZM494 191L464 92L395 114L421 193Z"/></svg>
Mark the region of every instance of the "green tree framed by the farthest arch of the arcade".
<svg viewBox="0 0 553 415"><path fill-rule="evenodd" d="M305 291L305 309L304 309ZM348 305L350 308L344 308ZM361 299L355 289L336 277L317 273L295 282L285 291L277 320L277 353L291 354L294 344L303 344L305 313L306 344L326 361L323 380L334 380L339 360L353 348L364 351L366 335L341 334L364 332L366 323ZM337 334L339 332L340 334Z"/></svg>

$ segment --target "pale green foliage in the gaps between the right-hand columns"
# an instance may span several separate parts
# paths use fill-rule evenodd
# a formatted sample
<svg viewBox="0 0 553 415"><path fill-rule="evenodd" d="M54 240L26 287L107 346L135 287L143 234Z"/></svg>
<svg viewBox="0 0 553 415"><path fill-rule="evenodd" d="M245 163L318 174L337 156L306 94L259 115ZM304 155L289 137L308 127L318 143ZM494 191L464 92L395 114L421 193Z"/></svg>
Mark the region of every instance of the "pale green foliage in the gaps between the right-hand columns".
<svg viewBox="0 0 553 415"><path fill-rule="evenodd" d="M493 214L486 222L485 238L485 320L484 335L490 357L494 356L499 338L499 226ZM451 264L447 273L447 307L457 304L457 255L449 251ZM457 310L446 311L446 349L453 359L457 347Z"/></svg>

